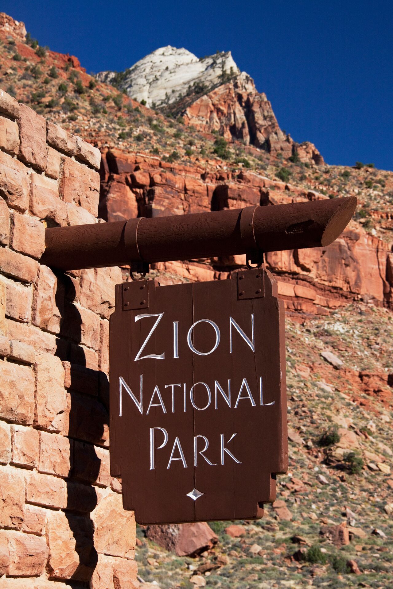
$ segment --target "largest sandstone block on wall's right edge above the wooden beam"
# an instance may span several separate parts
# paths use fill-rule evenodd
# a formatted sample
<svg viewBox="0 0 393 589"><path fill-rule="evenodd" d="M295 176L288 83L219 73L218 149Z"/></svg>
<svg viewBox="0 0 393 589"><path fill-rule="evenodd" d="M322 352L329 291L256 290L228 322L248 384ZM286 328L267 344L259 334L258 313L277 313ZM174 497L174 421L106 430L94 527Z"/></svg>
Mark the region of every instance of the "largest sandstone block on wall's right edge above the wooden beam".
<svg viewBox="0 0 393 589"><path fill-rule="evenodd" d="M75 203L97 217L100 198L100 174L87 166L63 158L60 196L66 203Z"/></svg>

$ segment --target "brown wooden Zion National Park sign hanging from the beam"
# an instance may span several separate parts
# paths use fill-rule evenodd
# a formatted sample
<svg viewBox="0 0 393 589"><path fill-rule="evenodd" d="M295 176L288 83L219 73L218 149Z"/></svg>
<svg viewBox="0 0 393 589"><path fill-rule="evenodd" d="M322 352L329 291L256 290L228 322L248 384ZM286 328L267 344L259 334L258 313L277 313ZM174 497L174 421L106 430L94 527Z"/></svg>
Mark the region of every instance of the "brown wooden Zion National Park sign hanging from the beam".
<svg viewBox="0 0 393 589"><path fill-rule="evenodd" d="M288 468L283 302L266 270L118 284L111 474L140 524L251 519Z"/></svg>

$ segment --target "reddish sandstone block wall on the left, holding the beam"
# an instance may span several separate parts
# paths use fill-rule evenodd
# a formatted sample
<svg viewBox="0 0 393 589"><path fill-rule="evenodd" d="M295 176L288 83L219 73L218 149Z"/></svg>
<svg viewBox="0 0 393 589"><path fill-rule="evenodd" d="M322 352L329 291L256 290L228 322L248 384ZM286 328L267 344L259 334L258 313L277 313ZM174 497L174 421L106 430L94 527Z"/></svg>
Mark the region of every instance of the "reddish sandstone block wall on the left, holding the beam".
<svg viewBox="0 0 393 589"><path fill-rule="evenodd" d="M134 587L111 479L118 268L54 272L45 226L98 223L100 153L0 90L0 588ZM136 581L135 581L136 583Z"/></svg>

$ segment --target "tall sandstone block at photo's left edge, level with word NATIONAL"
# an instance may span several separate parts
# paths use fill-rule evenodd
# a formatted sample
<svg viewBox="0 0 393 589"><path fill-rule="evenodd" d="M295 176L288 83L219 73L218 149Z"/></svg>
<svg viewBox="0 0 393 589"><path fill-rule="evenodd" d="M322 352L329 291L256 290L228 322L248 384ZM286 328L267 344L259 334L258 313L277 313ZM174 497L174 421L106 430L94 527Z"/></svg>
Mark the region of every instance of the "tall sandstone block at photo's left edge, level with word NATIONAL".
<svg viewBox="0 0 393 589"><path fill-rule="evenodd" d="M14 423L30 425L34 412L34 373L28 366L0 362L0 413Z"/></svg>

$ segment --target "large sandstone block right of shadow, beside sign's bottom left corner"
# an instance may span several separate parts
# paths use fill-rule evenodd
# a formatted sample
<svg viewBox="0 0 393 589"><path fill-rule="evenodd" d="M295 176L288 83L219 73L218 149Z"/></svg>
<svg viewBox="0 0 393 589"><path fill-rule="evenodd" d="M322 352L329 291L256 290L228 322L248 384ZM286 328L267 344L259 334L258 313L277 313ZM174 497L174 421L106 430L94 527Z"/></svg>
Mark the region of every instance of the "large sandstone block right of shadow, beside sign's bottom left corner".
<svg viewBox="0 0 393 589"><path fill-rule="evenodd" d="M101 499L91 514L94 524L94 547L101 554L133 558L136 523L133 511L123 509L123 499L111 493Z"/></svg>

